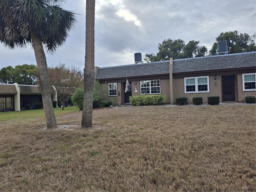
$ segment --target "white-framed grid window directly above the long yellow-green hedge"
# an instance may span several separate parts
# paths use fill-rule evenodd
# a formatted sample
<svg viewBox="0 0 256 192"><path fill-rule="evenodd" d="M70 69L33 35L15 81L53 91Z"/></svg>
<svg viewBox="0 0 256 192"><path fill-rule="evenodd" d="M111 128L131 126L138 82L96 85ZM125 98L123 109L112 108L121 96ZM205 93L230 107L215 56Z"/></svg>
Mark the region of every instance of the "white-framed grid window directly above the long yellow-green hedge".
<svg viewBox="0 0 256 192"><path fill-rule="evenodd" d="M140 81L140 94L161 94L160 80Z"/></svg>

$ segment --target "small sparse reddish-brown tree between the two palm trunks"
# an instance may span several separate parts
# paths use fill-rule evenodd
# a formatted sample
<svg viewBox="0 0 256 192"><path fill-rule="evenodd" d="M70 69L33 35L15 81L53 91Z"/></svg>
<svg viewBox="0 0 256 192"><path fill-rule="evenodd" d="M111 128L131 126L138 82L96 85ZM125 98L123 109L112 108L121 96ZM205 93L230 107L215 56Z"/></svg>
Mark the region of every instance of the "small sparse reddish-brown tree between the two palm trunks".
<svg viewBox="0 0 256 192"><path fill-rule="evenodd" d="M82 73L74 66L69 68L61 63L58 66L48 68L48 71L50 85L54 86L54 92L58 95L58 100L62 103L62 110L64 110L68 98L72 96L76 88L82 85Z"/></svg>

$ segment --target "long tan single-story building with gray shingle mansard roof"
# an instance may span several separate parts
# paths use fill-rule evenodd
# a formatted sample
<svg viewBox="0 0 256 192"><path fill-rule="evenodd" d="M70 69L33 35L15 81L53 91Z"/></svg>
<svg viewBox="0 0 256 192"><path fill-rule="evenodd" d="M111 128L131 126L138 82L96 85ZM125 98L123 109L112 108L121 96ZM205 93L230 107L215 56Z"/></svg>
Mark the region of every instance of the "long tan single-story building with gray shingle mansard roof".
<svg viewBox="0 0 256 192"><path fill-rule="evenodd" d="M95 68L96 80L108 86L107 101L127 104L129 96L164 94L175 98L220 96L220 102L242 102L256 95L256 52L222 54L150 63ZM125 92L126 78L131 86Z"/></svg>

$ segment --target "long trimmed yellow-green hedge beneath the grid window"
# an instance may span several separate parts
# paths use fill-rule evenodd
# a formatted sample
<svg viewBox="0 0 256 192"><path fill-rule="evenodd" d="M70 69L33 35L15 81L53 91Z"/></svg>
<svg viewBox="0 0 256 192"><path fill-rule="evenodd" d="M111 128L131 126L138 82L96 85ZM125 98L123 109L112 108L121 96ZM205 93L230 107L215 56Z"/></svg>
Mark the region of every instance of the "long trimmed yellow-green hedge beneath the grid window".
<svg viewBox="0 0 256 192"><path fill-rule="evenodd" d="M141 105L164 105L166 104L166 95L138 95L130 96L129 102L135 106Z"/></svg>

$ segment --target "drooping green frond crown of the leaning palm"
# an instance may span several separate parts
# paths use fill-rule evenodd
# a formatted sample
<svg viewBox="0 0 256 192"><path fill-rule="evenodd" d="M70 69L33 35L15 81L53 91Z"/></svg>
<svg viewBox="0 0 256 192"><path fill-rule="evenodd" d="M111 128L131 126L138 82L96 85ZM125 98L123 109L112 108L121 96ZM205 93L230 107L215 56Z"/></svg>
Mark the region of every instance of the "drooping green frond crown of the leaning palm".
<svg viewBox="0 0 256 192"><path fill-rule="evenodd" d="M1 0L0 41L10 48L30 44L30 25L47 51L54 53L76 23L76 14L56 5L64 0Z"/></svg>

